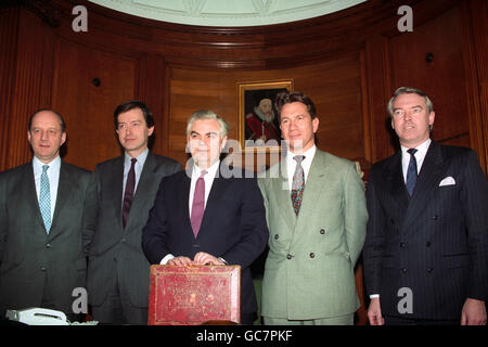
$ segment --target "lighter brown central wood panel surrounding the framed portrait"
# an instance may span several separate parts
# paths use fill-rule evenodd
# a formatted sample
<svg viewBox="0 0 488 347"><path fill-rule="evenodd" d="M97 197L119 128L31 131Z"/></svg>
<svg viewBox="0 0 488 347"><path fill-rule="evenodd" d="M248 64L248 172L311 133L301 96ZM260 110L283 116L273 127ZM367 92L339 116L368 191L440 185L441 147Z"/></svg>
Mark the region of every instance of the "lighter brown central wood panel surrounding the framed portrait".
<svg viewBox="0 0 488 347"><path fill-rule="evenodd" d="M236 83L287 77L294 79L295 90L307 91L317 101L320 145L349 158L365 157L363 118L358 112L361 110L360 55L351 52L333 61L270 70L195 73L171 68L169 155L181 157L187 119L193 111L214 110L228 119L230 133L235 133Z"/></svg>

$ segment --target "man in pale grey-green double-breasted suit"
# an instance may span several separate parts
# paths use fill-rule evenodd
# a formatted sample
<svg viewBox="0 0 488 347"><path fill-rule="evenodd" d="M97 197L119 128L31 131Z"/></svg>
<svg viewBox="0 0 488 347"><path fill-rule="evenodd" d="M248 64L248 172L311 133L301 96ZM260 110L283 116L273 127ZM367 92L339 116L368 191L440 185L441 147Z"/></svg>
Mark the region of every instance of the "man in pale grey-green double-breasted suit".
<svg viewBox="0 0 488 347"><path fill-rule="evenodd" d="M284 92L275 106L287 151L258 180L270 234L265 324L352 324L368 220L363 183L354 163L317 149L310 98Z"/></svg>

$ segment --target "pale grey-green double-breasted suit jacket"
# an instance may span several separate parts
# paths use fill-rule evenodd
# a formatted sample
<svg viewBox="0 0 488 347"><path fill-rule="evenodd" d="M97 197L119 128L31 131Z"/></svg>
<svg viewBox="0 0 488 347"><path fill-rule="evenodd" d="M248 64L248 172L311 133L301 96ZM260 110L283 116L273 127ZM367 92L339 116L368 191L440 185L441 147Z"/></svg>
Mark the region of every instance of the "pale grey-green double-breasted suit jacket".
<svg viewBox="0 0 488 347"><path fill-rule="evenodd" d="M261 314L309 320L355 312L354 269L368 219L356 166L317 149L296 216L281 163L258 180L270 230Z"/></svg>

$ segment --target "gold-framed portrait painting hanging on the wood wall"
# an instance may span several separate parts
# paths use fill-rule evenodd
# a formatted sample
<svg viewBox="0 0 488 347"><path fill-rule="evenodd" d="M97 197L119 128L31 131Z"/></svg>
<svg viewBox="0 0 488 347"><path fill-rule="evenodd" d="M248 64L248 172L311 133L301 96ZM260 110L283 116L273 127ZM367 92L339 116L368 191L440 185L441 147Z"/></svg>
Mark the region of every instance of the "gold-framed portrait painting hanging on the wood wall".
<svg viewBox="0 0 488 347"><path fill-rule="evenodd" d="M292 78L237 82L236 130L242 152L281 151L281 131L278 124L277 110L274 110L274 98L279 92L286 90L290 92L294 90L294 80ZM274 114L273 120L267 123L262 119L260 110L269 107L270 102L264 101L264 99L271 101L271 111ZM270 116L270 114L267 114L267 116ZM259 131L259 129L261 130Z"/></svg>

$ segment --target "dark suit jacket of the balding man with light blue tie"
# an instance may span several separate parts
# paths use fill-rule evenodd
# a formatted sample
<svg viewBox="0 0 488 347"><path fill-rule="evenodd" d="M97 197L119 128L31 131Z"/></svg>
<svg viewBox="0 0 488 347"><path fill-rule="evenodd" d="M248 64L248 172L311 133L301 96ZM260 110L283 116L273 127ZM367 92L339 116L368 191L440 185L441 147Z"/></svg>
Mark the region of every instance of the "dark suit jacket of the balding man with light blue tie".
<svg viewBox="0 0 488 347"><path fill-rule="evenodd" d="M86 242L94 228L91 174L61 162L56 204L47 233L33 163L0 174L0 311L40 307L49 286L55 309L73 313L86 287Z"/></svg>

